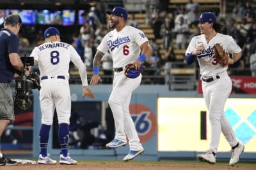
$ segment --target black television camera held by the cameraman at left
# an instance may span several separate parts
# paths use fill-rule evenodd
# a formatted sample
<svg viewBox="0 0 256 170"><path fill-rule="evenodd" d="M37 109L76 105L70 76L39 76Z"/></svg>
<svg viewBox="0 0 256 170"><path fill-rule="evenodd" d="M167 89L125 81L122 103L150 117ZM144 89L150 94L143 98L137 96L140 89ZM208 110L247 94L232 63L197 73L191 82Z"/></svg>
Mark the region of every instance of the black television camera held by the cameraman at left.
<svg viewBox="0 0 256 170"><path fill-rule="evenodd" d="M29 72L29 76L26 76L26 69L29 66L34 66L33 57L21 57L20 58L24 64L24 69L20 71L19 76L15 78L15 97L13 101L17 104L20 109L28 110L32 102L29 96L32 94L32 89L40 90L40 78L39 74L36 72Z"/></svg>

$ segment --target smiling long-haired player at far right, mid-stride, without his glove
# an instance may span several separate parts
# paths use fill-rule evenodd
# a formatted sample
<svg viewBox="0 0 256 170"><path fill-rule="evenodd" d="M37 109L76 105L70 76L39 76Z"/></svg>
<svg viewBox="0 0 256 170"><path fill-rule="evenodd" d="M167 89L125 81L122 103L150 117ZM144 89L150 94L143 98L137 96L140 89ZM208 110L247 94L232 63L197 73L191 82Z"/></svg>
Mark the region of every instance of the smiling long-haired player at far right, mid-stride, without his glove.
<svg viewBox="0 0 256 170"><path fill-rule="evenodd" d="M219 33L221 25L216 23L216 16L211 12L204 12L198 18L200 35L191 39L186 50L186 61L191 64L198 60L202 80L202 89L209 119L211 123L211 143L206 153L198 155L198 159L210 164L216 163L215 154L220 143L222 132L231 146L230 166L236 164L244 145L237 141L234 131L224 114L224 106L232 89L232 81L227 74L227 65L234 64L241 57L241 48L231 36ZM227 65L221 66L214 56L213 46L220 43L227 53Z"/></svg>

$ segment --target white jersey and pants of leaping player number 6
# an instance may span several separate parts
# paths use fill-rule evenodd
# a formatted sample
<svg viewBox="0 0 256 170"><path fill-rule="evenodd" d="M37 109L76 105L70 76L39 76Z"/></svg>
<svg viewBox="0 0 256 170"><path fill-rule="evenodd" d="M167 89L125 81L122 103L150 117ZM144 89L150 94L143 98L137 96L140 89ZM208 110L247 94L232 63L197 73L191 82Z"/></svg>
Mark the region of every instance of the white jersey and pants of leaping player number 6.
<svg viewBox="0 0 256 170"><path fill-rule="evenodd" d="M148 39L142 31L126 25L119 32L114 29L106 34L97 50L103 53L109 51L114 68L124 67L138 59L140 46L146 41ZM140 83L141 74L137 78L127 78L124 70L115 72L113 90L108 100L115 120L115 139L126 141L128 138L130 150L143 150L129 111L132 91Z"/></svg>

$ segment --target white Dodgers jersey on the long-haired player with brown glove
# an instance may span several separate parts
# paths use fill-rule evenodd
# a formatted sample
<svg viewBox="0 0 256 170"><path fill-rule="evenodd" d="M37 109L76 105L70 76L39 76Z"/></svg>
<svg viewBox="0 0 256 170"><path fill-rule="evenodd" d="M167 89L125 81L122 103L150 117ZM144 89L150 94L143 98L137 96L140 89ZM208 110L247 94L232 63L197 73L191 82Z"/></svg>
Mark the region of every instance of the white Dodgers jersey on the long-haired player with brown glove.
<svg viewBox="0 0 256 170"><path fill-rule="evenodd" d="M192 53L197 46L204 44L205 49L197 55L202 77L214 76L223 71L227 71L228 66L221 66L214 57L213 46L216 43L220 43L227 53L233 54L241 52L241 48L237 45L232 36L217 33L209 43L207 43L204 34L193 37L188 45L186 54Z"/></svg>

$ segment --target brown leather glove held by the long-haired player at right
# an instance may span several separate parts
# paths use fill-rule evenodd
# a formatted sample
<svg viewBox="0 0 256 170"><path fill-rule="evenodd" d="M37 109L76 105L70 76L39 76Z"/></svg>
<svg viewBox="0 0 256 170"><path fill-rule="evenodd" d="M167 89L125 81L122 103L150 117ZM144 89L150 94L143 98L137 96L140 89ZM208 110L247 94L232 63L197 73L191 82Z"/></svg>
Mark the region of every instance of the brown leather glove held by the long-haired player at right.
<svg viewBox="0 0 256 170"><path fill-rule="evenodd" d="M213 52L215 58L218 60L218 63L221 66L227 66L228 65L228 53L225 52L225 50L222 48L222 46L219 43L216 43L213 46Z"/></svg>

